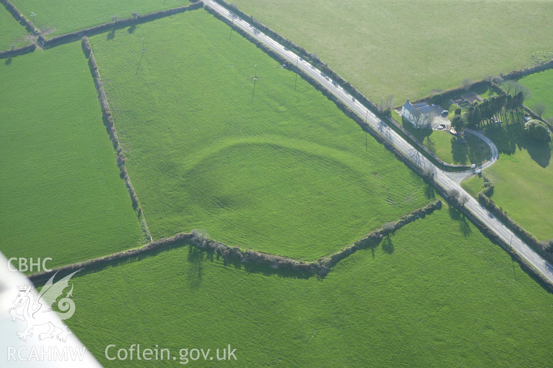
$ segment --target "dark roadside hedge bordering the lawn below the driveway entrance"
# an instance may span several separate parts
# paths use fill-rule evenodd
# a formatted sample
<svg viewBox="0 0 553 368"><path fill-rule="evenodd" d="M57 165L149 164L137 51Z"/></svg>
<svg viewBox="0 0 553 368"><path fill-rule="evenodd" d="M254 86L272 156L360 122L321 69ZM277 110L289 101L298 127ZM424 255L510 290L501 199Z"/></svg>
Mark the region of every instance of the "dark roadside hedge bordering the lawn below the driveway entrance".
<svg viewBox="0 0 553 368"><path fill-rule="evenodd" d="M538 252L542 258L547 260L549 263L553 263L553 254L549 252L549 243L540 242L536 239L530 232L520 226L517 222L513 221L507 213L499 207L495 202L489 198L488 194L493 191L493 183L489 180L488 177L484 177L484 182L488 183L487 186L478 193L478 202L482 204L488 211L499 218L505 225L507 225L519 238L521 238L526 244L528 244L532 249Z"/></svg>

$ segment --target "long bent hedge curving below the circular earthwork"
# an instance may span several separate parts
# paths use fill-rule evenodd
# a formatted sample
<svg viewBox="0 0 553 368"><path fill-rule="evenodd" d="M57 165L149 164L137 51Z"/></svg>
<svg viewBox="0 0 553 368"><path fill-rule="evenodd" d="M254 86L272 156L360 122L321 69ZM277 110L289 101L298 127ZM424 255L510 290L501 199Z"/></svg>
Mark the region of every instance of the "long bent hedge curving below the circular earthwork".
<svg viewBox="0 0 553 368"><path fill-rule="evenodd" d="M214 241L197 230L192 230L189 233L178 233L169 238L159 239L155 242L150 242L143 247L123 250L113 254L108 254L103 257L97 257L77 262L65 266L60 266L50 271L41 271L29 275L29 279L33 282L39 282L49 279L57 272L72 273L82 268L98 268L99 266L107 265L112 262L118 262L131 257L136 257L139 254L152 252L153 250L165 249L178 246L179 243L189 241L194 246L201 248L207 252L219 252L223 259L236 263L249 263L256 265L269 266L273 269L292 270L308 275L317 275L324 277L328 274L332 266L336 265L340 260L346 258L349 254L356 252L359 249L368 248L371 245L377 244L388 234L399 230L401 227L411 223L418 218L424 218L427 214L431 214L436 209L441 209L442 201L437 200L430 202L424 207L414 210L408 215L402 216L396 222L389 222L348 247L340 249L336 253L319 258L316 262L308 262L294 258L283 257L281 255L258 252L253 249L240 249L240 247L228 247L225 244Z"/></svg>

